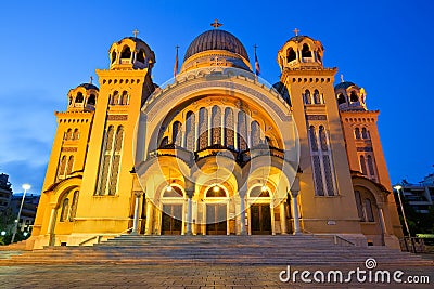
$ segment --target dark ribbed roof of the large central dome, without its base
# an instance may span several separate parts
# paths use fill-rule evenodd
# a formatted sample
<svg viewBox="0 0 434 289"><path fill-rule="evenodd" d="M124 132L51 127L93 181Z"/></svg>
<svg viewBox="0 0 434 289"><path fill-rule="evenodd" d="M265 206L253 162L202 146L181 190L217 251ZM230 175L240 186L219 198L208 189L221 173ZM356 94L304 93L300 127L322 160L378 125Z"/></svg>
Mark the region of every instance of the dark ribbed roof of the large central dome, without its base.
<svg viewBox="0 0 434 289"><path fill-rule="evenodd" d="M207 50L230 51L241 55L248 62L247 52L241 41L232 34L220 29L208 30L197 36L187 49L183 60L186 61L190 56Z"/></svg>

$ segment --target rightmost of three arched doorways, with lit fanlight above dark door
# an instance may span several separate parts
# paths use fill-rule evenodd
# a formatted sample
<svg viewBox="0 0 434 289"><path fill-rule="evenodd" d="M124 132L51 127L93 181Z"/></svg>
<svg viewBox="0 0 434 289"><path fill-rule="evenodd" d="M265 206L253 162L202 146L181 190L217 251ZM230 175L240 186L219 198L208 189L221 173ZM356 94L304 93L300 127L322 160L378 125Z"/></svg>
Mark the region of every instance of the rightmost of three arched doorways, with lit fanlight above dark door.
<svg viewBox="0 0 434 289"><path fill-rule="evenodd" d="M270 193L267 187L255 186L248 194L252 235L271 235Z"/></svg>

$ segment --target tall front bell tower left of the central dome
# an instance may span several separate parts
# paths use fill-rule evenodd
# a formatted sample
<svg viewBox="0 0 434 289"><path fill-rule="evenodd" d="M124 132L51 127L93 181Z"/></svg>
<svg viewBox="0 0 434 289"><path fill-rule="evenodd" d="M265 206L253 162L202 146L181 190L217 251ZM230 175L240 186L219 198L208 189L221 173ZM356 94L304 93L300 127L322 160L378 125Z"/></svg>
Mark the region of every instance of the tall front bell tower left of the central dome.
<svg viewBox="0 0 434 289"><path fill-rule="evenodd" d="M151 74L155 54L138 38L137 30L133 34L133 37L112 44L108 69L97 69L100 94L82 179L84 194L77 210L77 215L91 216L107 224L113 218L125 220L105 226L104 229L111 227L113 232L130 227L126 222L135 200L131 169L135 166L136 124L144 101L154 91ZM115 212L108 209L114 200ZM77 232L101 226L92 222L101 221L89 221L86 225L77 223Z"/></svg>

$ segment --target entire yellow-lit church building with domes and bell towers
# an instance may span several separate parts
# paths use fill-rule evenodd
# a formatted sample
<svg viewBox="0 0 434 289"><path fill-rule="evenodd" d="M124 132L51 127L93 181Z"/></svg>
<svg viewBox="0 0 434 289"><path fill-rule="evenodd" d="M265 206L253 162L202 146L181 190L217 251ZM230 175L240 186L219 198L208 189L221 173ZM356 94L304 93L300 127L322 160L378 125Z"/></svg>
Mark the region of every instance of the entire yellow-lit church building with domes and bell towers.
<svg viewBox="0 0 434 289"><path fill-rule="evenodd" d="M252 66L242 42L213 26L165 86L136 30L112 44L98 86L69 90L28 246L316 234L399 248L379 110L365 89L334 86L321 42L297 30L270 86L256 55Z"/></svg>

